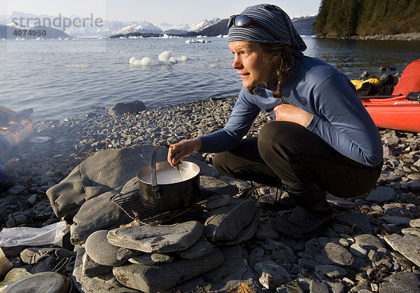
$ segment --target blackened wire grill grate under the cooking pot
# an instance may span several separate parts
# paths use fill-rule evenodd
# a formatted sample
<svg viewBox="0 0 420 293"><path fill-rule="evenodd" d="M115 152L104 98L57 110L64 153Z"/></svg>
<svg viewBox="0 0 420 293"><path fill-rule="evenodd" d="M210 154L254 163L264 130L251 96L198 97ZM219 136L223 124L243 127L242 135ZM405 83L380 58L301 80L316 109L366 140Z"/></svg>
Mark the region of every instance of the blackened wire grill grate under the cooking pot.
<svg viewBox="0 0 420 293"><path fill-rule="evenodd" d="M114 196L112 201L130 218L144 225L160 225L197 210L206 210L205 203L221 198L220 193L200 188L200 197L196 203L180 210L159 212L146 207L140 199L140 191L134 191Z"/></svg>

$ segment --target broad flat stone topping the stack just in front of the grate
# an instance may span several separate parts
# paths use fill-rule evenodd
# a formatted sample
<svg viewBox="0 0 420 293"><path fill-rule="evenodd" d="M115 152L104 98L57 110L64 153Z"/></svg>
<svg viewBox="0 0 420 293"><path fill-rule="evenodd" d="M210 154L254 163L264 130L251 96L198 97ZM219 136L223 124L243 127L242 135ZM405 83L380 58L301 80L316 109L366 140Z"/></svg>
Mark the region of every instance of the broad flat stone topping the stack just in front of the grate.
<svg viewBox="0 0 420 293"><path fill-rule="evenodd" d="M186 250L200 239L204 227L190 221L160 226L125 226L108 233L109 243L142 252L166 253Z"/></svg>

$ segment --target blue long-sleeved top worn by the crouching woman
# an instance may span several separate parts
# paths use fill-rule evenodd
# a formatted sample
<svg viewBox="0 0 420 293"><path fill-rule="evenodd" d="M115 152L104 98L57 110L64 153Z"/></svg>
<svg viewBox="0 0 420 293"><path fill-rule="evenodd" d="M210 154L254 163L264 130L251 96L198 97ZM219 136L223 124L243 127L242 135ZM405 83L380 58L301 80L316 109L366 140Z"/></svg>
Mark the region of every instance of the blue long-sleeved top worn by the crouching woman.
<svg viewBox="0 0 420 293"><path fill-rule="evenodd" d="M283 85L283 98L287 104L314 115L307 129L344 156L365 165L378 165L383 156L379 131L349 79L331 65L307 56L295 57L292 76ZM276 81L268 88L257 86L256 95L242 88L225 128L200 137L200 151L235 149L261 110L274 118L274 107L282 104L272 96L275 88Z"/></svg>

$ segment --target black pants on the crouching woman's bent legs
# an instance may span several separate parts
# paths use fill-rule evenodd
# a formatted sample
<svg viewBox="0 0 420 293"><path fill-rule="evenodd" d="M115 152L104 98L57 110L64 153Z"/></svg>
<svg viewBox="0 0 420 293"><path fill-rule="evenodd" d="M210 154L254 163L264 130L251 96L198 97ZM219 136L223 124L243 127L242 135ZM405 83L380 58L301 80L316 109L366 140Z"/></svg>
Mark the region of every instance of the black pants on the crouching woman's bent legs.
<svg viewBox="0 0 420 293"><path fill-rule="evenodd" d="M230 177L268 186L283 182L296 193L317 186L340 198L370 191L382 168L382 163L370 167L353 161L301 125L284 121L267 123L258 137L216 154L213 163Z"/></svg>

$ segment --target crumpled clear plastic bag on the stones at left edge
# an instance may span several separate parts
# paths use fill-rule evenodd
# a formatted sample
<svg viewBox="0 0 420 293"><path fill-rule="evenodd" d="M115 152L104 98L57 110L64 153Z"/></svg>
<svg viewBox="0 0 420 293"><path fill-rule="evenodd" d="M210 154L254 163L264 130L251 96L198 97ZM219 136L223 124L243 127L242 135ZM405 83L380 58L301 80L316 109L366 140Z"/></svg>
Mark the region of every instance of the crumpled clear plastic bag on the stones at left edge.
<svg viewBox="0 0 420 293"><path fill-rule="evenodd" d="M58 243L64 236L66 225L65 221L61 221L41 228L3 228L0 232L0 247L40 246Z"/></svg>

